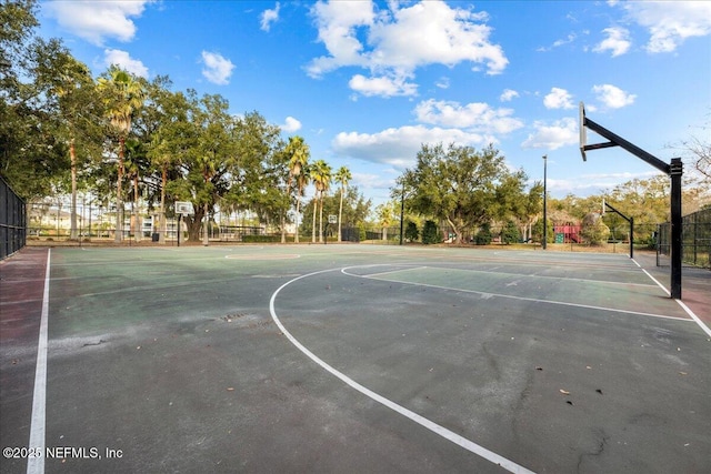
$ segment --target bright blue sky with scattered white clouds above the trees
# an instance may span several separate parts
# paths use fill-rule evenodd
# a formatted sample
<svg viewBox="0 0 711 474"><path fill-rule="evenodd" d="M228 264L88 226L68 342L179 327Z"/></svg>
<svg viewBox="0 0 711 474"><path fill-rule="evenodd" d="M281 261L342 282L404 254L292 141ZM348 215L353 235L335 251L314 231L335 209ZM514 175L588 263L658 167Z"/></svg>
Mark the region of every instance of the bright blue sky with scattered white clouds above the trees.
<svg viewBox="0 0 711 474"><path fill-rule="evenodd" d="M492 142L531 180L545 154L557 198L658 173L619 148L583 163L580 101L667 162L708 141L711 2L43 1L39 17L96 75L167 74L302 135L375 204L424 142Z"/></svg>

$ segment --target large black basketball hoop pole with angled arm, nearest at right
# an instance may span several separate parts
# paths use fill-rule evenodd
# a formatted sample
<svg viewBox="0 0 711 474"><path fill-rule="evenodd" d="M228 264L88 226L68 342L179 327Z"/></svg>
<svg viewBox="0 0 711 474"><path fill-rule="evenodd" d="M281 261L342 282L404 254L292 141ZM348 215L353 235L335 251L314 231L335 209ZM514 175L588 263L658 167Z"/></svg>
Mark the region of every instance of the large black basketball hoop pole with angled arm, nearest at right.
<svg viewBox="0 0 711 474"><path fill-rule="evenodd" d="M645 152L622 137L612 133L604 127L588 119L582 102L580 103L580 110L581 129L587 127L599 135L610 140L607 143L598 144L580 143L580 151L583 153L583 158L584 152L589 150L621 147L671 178L671 297L681 300L681 177L683 174L681 158L672 158L671 163L667 164L651 153ZM581 133L581 137L583 137L583 133Z"/></svg>

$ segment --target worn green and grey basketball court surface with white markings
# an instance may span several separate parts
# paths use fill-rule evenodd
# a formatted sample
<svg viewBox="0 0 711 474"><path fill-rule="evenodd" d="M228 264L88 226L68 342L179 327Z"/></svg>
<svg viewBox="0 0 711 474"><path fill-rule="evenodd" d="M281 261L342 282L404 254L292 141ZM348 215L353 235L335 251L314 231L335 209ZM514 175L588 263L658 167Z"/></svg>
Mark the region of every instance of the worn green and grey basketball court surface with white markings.
<svg viewBox="0 0 711 474"><path fill-rule="evenodd" d="M77 450L48 473L711 470L709 313L670 300L643 258L246 245L50 260L44 442ZM1 269L4 289L22 283ZM13 324L2 447L28 445L36 385L38 331Z"/></svg>

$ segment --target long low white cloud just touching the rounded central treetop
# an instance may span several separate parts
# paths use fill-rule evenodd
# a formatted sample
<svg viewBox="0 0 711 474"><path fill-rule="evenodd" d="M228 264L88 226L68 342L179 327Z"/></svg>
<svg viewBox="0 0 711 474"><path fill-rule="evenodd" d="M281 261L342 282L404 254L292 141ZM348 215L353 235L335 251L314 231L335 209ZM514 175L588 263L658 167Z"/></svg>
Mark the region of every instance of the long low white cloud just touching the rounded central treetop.
<svg viewBox="0 0 711 474"><path fill-rule="evenodd" d="M331 145L339 155L388 163L398 169L404 169L414 164L422 143L440 142L462 145L488 143L487 138L478 133L458 129L408 125L378 133L341 132L336 135Z"/></svg>

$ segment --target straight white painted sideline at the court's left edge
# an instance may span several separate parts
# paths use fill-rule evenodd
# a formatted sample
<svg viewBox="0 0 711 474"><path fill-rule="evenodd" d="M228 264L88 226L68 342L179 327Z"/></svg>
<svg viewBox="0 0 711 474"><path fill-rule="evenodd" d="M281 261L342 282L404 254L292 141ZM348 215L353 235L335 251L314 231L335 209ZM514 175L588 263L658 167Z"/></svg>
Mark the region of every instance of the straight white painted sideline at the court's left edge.
<svg viewBox="0 0 711 474"><path fill-rule="evenodd" d="M34 456L28 456L28 474L44 473L44 415L47 401L47 327L49 319L49 270L52 250L47 250L47 270L44 273L44 293L40 316L40 336L37 344L37 367L34 370L34 394L32 396L32 422L28 447Z"/></svg>

